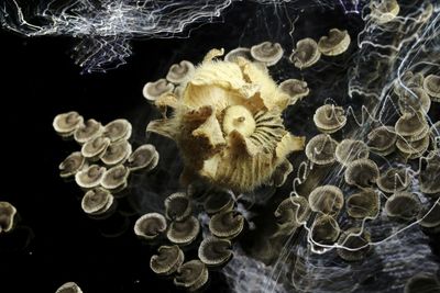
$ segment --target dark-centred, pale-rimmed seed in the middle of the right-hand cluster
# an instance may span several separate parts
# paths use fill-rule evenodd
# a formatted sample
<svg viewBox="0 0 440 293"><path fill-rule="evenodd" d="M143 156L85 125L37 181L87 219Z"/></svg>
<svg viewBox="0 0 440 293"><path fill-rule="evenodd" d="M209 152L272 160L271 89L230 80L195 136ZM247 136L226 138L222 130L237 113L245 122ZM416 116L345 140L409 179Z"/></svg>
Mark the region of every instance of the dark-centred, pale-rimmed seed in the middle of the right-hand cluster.
<svg viewBox="0 0 440 293"><path fill-rule="evenodd" d="M374 184L378 178L377 165L370 159L359 159L346 167L344 179L350 185L366 188Z"/></svg>

